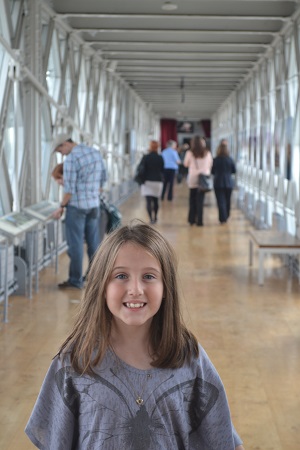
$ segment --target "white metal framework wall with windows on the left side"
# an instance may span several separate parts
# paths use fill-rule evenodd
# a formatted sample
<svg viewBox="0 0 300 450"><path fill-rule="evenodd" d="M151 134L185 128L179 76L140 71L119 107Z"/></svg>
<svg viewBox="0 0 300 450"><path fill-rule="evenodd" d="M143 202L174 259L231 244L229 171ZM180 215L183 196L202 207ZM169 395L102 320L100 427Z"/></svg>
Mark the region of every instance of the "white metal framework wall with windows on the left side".
<svg viewBox="0 0 300 450"><path fill-rule="evenodd" d="M57 199L58 132L99 148L107 189L122 187L158 117L45 2L0 0L0 11L0 215Z"/></svg>

